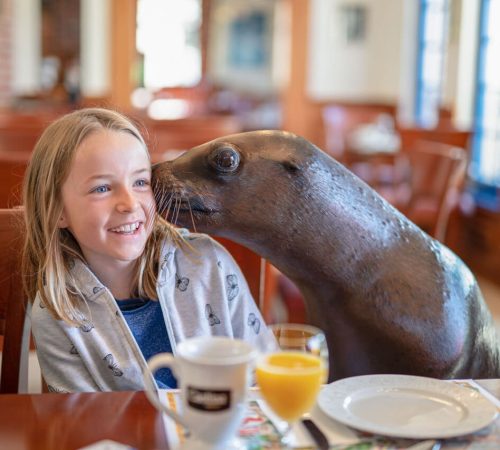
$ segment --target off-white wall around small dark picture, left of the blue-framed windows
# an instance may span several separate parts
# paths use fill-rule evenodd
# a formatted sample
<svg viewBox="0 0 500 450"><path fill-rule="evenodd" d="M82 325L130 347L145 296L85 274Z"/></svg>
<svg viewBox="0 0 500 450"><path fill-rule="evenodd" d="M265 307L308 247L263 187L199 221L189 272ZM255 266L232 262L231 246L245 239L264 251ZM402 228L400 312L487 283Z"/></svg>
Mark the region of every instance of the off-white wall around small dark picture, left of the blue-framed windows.
<svg viewBox="0 0 500 450"><path fill-rule="evenodd" d="M307 88L313 99L397 102L405 2L311 0ZM362 42L346 42L341 13L346 5L366 8Z"/></svg>

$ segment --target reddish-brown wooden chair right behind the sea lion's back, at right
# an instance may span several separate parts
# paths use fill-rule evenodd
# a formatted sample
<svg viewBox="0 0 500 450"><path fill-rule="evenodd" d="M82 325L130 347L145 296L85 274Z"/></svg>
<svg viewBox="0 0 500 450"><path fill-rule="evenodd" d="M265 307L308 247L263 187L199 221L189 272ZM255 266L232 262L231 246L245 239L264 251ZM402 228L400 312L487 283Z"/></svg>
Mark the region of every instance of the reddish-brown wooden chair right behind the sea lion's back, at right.
<svg viewBox="0 0 500 450"><path fill-rule="evenodd" d="M420 141L406 156L409 199L395 206L430 236L445 242L450 214L458 207L465 183L467 153L460 147Z"/></svg>

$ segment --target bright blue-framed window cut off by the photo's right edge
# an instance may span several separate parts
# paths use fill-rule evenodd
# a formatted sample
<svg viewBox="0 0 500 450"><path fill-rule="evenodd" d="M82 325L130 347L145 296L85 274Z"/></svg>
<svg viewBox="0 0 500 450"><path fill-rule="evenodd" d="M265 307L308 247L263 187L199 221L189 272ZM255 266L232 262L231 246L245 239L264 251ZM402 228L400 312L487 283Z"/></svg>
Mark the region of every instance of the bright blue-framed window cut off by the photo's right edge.
<svg viewBox="0 0 500 450"><path fill-rule="evenodd" d="M481 3L475 134L471 177L500 187L500 0Z"/></svg>

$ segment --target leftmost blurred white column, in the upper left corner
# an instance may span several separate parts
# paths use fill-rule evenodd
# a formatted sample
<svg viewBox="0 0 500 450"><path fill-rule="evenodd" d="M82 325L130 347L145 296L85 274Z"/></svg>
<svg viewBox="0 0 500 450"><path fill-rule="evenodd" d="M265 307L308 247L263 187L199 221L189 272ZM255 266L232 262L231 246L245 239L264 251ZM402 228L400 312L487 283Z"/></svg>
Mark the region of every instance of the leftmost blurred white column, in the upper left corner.
<svg viewBox="0 0 500 450"><path fill-rule="evenodd" d="M42 60L41 0L12 1L12 88L14 95L40 90Z"/></svg>

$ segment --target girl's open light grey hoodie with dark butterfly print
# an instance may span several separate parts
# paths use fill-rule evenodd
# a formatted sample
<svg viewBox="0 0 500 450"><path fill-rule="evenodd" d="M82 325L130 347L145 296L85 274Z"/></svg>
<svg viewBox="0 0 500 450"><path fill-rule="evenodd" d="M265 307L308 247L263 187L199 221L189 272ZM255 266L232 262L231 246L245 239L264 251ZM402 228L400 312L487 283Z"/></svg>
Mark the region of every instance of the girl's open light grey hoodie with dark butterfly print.
<svg viewBox="0 0 500 450"><path fill-rule="evenodd" d="M182 234L192 249L166 240L157 283L173 353L184 339L205 335L240 338L264 348L270 332L231 255L207 235ZM85 297L83 325L54 319L39 295L31 308L49 390L143 390L146 361L113 295L82 261L75 260L71 270Z"/></svg>

